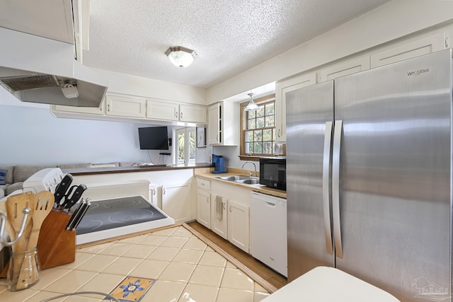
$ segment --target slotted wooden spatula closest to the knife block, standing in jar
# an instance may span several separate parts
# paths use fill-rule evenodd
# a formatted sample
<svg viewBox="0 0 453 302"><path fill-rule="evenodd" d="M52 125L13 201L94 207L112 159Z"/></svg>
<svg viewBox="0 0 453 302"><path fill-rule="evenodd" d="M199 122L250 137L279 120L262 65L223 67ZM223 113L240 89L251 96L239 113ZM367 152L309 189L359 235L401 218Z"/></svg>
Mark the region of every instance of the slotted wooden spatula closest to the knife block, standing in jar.
<svg viewBox="0 0 453 302"><path fill-rule="evenodd" d="M38 243L38 238L40 234L40 229L42 221L46 219L49 212L54 207L55 197L54 194L48 191L41 191L36 194L36 207L33 211L33 216L31 221L33 223L33 228L28 239L28 244L26 250L32 250L36 248ZM39 279L38 267L34 269L27 269L25 267L25 262L23 262L21 272L19 273L19 279L17 283L18 289L26 289L28 286L35 284Z"/></svg>

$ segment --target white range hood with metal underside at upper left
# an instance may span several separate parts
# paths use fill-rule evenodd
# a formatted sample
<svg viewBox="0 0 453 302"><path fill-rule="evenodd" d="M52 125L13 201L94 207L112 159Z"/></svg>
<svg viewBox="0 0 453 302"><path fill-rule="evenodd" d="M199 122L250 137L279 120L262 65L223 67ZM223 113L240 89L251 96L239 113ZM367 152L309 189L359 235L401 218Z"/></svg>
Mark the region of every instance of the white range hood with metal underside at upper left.
<svg viewBox="0 0 453 302"><path fill-rule="evenodd" d="M30 103L99 107L108 81L74 59L74 45L0 28L0 86Z"/></svg>

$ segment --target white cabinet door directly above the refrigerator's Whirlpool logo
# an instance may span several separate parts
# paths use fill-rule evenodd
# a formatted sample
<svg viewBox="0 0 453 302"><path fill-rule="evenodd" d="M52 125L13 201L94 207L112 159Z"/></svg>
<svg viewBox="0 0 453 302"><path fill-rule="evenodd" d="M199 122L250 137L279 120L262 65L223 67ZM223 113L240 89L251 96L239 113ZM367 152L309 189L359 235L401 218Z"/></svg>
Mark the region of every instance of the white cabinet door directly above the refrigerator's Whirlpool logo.
<svg viewBox="0 0 453 302"><path fill-rule="evenodd" d="M423 54L445 49L444 33L435 33L418 40L399 42L371 54L371 67L384 66Z"/></svg>

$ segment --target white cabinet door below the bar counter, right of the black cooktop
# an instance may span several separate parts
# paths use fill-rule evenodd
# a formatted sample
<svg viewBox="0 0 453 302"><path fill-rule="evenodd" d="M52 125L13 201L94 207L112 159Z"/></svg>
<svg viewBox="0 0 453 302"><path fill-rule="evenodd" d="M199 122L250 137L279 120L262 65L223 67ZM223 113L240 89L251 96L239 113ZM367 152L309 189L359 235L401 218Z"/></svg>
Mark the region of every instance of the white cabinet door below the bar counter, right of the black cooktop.
<svg viewBox="0 0 453 302"><path fill-rule="evenodd" d="M162 211L175 219L175 223L191 219L189 182L162 187Z"/></svg>

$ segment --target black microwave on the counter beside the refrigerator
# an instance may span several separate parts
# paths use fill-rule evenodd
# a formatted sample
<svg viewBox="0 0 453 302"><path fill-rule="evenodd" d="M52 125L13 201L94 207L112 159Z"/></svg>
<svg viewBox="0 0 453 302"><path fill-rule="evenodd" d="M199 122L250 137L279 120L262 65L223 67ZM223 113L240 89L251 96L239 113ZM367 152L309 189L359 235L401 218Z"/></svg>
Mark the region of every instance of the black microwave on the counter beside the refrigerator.
<svg viewBox="0 0 453 302"><path fill-rule="evenodd" d="M260 184L286 190L286 157L260 158Z"/></svg>

